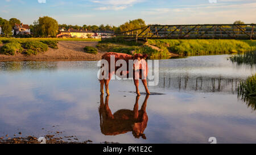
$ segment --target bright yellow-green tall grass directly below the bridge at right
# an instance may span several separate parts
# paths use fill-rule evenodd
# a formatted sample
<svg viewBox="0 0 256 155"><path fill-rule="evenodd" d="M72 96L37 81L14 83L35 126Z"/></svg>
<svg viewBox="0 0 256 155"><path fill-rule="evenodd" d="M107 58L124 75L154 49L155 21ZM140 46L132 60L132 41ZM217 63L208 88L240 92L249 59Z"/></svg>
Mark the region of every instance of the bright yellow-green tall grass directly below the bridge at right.
<svg viewBox="0 0 256 155"><path fill-rule="evenodd" d="M254 40L148 40L148 44L181 56L224 55L256 49Z"/></svg>

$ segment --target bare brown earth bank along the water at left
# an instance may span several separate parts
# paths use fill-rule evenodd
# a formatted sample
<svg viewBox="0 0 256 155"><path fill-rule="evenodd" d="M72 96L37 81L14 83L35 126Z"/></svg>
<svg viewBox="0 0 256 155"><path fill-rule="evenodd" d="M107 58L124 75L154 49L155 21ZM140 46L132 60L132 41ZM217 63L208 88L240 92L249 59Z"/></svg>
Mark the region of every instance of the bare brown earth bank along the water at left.
<svg viewBox="0 0 256 155"><path fill-rule="evenodd" d="M97 61L105 52L99 51L97 54L84 52L85 46L96 47L97 44L96 41L59 41L58 49L49 48L45 53L32 56L0 54L0 61Z"/></svg>

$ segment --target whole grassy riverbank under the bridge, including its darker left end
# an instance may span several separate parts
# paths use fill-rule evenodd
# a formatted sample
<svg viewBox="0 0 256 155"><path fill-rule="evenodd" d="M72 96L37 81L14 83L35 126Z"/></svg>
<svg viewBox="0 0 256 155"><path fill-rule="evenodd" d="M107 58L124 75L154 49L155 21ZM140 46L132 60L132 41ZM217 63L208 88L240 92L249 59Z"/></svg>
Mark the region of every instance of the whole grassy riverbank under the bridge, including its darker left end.
<svg viewBox="0 0 256 155"><path fill-rule="evenodd" d="M170 58L172 55L199 56L245 53L256 49L254 40L148 40L147 43L135 41L100 41L98 49L106 52L131 54L143 53L150 58Z"/></svg>

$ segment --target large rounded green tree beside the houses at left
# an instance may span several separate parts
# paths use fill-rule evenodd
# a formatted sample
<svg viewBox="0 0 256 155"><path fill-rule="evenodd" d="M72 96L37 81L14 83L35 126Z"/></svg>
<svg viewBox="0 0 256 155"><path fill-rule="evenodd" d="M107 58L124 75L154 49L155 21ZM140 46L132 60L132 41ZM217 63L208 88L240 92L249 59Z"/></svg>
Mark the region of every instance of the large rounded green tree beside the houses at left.
<svg viewBox="0 0 256 155"><path fill-rule="evenodd" d="M38 30L39 30L40 36L55 37L59 30L59 24L57 20L49 16L40 17L38 19Z"/></svg>

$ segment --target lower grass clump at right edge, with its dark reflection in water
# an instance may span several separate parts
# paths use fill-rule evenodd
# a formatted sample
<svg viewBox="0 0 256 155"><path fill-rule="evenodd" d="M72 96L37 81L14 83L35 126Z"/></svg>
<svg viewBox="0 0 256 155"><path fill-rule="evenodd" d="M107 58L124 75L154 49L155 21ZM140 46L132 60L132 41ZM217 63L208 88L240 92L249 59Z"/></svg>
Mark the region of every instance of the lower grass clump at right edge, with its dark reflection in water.
<svg viewBox="0 0 256 155"><path fill-rule="evenodd" d="M248 107L256 110L256 74L247 78L245 82L240 82L238 96L246 102Z"/></svg>

